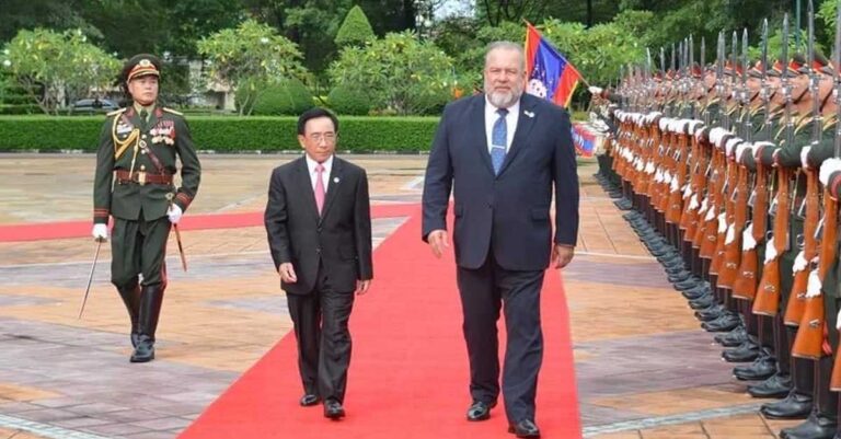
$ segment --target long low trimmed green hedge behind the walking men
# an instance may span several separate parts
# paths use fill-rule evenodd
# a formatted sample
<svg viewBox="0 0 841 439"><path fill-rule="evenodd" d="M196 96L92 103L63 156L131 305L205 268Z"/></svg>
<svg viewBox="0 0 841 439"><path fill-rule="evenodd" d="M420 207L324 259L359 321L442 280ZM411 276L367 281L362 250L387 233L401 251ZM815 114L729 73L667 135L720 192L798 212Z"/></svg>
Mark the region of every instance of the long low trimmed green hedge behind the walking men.
<svg viewBox="0 0 841 439"><path fill-rule="evenodd" d="M102 116L2 116L0 151L94 151ZM199 150L299 150L297 117L187 116ZM339 117L339 151L427 151L438 117Z"/></svg>

